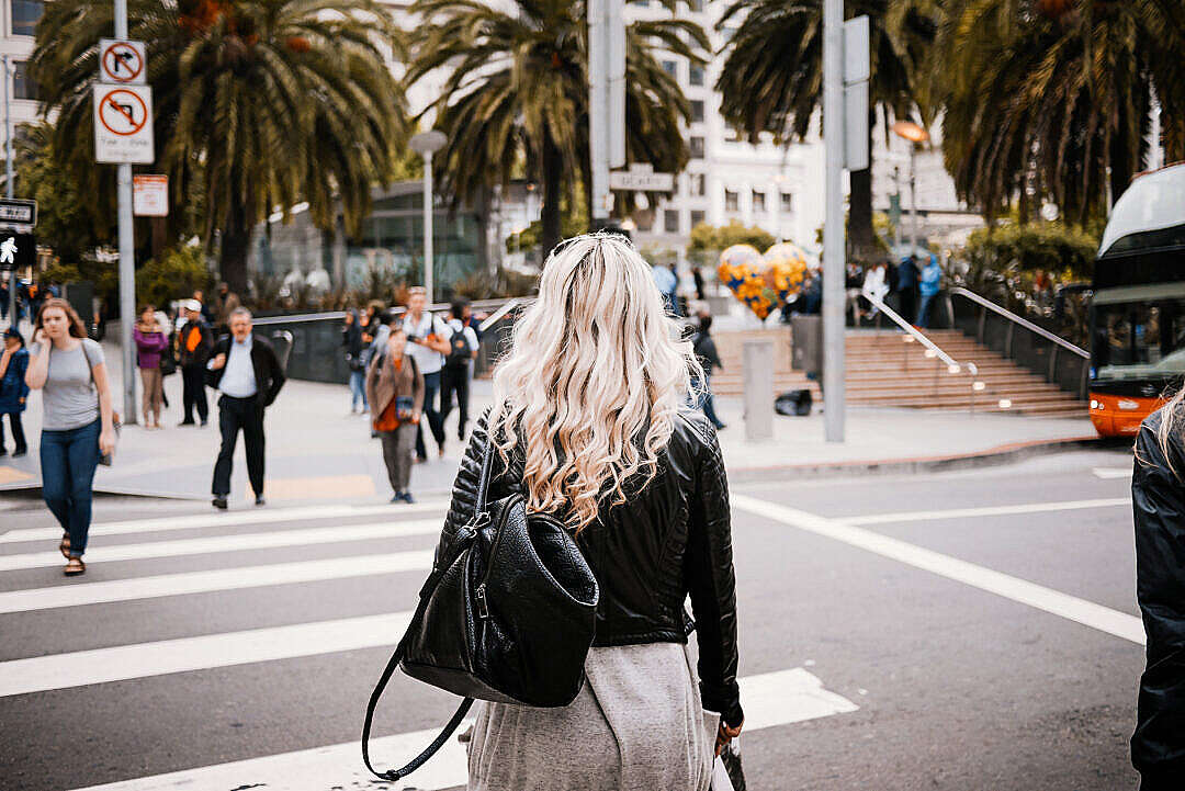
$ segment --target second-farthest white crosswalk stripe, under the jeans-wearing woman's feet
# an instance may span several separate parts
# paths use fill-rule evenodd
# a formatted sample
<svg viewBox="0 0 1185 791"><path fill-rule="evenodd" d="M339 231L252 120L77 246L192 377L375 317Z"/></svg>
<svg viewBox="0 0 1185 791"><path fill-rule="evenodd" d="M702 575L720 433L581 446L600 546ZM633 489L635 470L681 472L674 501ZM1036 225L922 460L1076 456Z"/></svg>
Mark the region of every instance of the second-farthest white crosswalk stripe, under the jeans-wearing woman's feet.
<svg viewBox="0 0 1185 791"><path fill-rule="evenodd" d="M392 539L415 535L435 535L441 530L440 519L410 521L370 522L367 525L344 525L341 527L313 527L274 533L248 533L245 535L210 535L199 539L175 541L150 541L147 544L123 544L111 547L87 549L87 565L114 562L116 560L143 560L147 558L178 558L219 552L243 552L246 549L275 549L278 547L315 546L367 539ZM65 562L60 552L28 552L19 555L0 555L0 571L18 568L44 568Z"/></svg>

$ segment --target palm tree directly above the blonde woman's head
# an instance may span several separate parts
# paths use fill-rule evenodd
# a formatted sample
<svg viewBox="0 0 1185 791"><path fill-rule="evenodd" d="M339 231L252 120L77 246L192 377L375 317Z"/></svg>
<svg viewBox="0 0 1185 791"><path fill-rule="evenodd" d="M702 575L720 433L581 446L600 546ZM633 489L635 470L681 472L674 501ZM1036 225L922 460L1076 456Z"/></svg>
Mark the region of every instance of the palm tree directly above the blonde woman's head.
<svg viewBox="0 0 1185 791"><path fill-rule="evenodd" d="M675 11L674 0L664 5ZM473 0L417 0L425 24L410 36L410 85L450 70L435 110L448 136L437 157L454 200L479 197L514 175L540 178L546 252L561 238L561 204L588 201L588 25L584 2L515 0L511 11ZM659 51L703 64L707 38L680 19L635 21L626 33L627 159L681 171L688 159L680 120L691 107L662 70Z"/></svg>

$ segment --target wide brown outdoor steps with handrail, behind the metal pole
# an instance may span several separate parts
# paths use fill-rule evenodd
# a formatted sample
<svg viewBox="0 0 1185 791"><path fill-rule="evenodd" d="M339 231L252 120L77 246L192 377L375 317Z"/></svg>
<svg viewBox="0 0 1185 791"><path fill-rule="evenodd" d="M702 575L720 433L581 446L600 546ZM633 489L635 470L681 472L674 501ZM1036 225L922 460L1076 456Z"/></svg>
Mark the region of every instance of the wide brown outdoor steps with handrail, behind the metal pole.
<svg viewBox="0 0 1185 791"><path fill-rule="evenodd" d="M940 360L925 356L921 343L905 342L899 332L848 330L847 400L864 406L909 406L937 410L1018 412L1045 417L1087 413L1087 405L1057 385L980 346L959 330L929 330L927 336L961 364L974 362L978 375L952 374ZM790 330L756 329L713 333L724 371L712 377L718 396L742 394L742 348L745 340L774 341L775 392L809 387L821 400L818 382L790 369ZM980 382L975 390L975 382Z"/></svg>

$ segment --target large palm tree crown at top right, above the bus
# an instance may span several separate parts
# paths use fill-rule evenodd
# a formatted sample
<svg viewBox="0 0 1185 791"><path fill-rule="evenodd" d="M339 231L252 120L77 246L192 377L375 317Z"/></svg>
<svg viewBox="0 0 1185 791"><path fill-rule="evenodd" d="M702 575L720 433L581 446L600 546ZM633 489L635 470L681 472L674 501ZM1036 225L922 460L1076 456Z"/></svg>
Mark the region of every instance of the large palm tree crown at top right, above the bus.
<svg viewBox="0 0 1185 791"><path fill-rule="evenodd" d="M942 32L943 154L991 219L1051 198L1083 223L1142 169L1153 90L1170 159L1185 136L1179 2L952 0Z"/></svg>

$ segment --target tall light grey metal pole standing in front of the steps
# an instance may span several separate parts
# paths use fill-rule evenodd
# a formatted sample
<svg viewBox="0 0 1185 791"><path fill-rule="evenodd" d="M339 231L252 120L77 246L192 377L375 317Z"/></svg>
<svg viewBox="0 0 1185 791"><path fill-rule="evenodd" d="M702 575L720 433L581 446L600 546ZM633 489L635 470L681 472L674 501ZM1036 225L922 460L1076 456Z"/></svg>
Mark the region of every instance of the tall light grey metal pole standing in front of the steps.
<svg viewBox="0 0 1185 791"><path fill-rule="evenodd" d="M844 442L844 0L824 0L822 114L827 152L822 230L822 380L827 442Z"/></svg>

